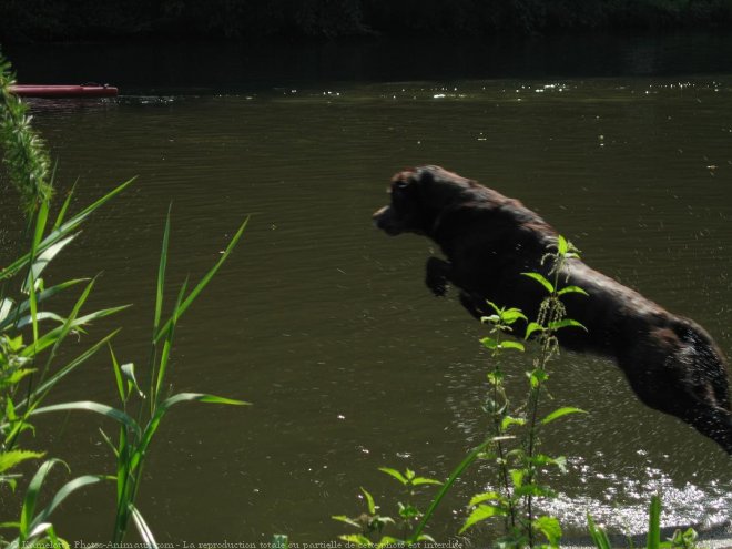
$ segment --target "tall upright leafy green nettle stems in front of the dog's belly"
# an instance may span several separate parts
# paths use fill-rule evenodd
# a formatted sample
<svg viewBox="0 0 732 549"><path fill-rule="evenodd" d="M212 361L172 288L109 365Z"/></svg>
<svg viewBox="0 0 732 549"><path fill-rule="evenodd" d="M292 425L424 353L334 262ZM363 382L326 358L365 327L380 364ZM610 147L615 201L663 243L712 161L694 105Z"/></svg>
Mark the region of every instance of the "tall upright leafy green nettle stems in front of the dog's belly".
<svg viewBox="0 0 732 549"><path fill-rule="evenodd" d="M569 414L583 410L566 406L557 408L543 417L540 416L540 400L549 380L549 363L559 354L557 333L565 328L586 329L577 321L567 318L567 309L561 301L570 293L587 293L578 286L561 285L561 273L570 258L579 258L579 251L563 236L557 237L556 251L545 254L541 263L551 262L548 279L540 273L522 273L546 289L547 295L539 306L537 319L529 322L518 308L499 307L488 302L494 314L481 318L490 326L481 344L490 350L494 368L488 373L490 386L484 410L490 416L492 436L486 449L478 457L494 460L498 469L497 488L477 494L470 500L471 511L462 526L464 532L489 518L504 520L505 536L499 545L505 547L533 547L537 535L546 538L550 547L558 547L561 539L559 520L551 516L539 516L538 498L553 498L556 492L541 482L541 472L548 466L566 471L567 459L563 456L548 456L539 451L539 435L545 426ZM538 337L539 353L532 360L532 368L526 373L529 386L526 400L512 407L506 386L502 359L506 353L523 352L523 343L507 339L515 325L526 324L523 339ZM515 434L516 433L516 434Z"/></svg>

